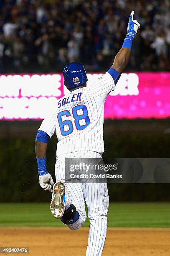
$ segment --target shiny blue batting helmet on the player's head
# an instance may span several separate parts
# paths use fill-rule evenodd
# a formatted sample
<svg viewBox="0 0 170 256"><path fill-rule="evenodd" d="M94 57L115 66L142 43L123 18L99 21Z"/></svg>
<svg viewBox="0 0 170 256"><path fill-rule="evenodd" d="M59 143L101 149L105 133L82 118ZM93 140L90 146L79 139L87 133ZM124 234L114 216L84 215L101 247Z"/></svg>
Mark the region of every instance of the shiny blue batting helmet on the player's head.
<svg viewBox="0 0 170 256"><path fill-rule="evenodd" d="M64 84L72 88L87 82L86 70L80 63L71 62L63 70Z"/></svg>

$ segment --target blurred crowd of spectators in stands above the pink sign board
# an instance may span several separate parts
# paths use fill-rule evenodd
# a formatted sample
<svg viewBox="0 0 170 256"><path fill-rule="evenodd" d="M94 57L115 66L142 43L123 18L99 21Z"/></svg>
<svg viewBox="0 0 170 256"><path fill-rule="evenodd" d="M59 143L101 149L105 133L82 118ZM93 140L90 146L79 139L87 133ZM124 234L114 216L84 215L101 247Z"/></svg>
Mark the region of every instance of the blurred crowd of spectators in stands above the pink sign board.
<svg viewBox="0 0 170 256"><path fill-rule="evenodd" d="M131 11L141 25L129 70L170 70L170 0L1 0L0 73L107 70Z"/></svg>

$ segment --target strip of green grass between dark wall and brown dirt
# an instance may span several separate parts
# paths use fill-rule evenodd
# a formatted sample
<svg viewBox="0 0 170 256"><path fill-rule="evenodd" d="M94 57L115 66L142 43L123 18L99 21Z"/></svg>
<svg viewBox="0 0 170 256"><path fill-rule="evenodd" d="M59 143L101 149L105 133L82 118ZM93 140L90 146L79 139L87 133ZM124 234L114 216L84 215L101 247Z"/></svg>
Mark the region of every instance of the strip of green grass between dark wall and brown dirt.
<svg viewBox="0 0 170 256"><path fill-rule="evenodd" d="M48 203L0 203L0 226L63 226ZM84 223L89 226L89 219ZM108 227L170 228L170 203L110 203Z"/></svg>

